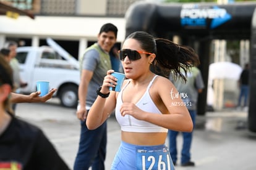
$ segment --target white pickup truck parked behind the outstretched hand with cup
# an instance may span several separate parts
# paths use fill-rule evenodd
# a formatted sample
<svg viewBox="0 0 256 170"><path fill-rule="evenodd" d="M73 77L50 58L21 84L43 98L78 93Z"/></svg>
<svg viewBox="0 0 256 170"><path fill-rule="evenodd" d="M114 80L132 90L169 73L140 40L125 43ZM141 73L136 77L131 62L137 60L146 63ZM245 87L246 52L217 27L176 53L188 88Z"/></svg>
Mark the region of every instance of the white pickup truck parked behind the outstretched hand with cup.
<svg viewBox="0 0 256 170"><path fill-rule="evenodd" d="M76 107L80 82L79 63L70 56L60 55L49 46L18 47L17 60L20 76L28 83L21 88L24 94L36 91L36 81L49 81L49 88L57 88L53 97L58 97L64 107Z"/></svg>

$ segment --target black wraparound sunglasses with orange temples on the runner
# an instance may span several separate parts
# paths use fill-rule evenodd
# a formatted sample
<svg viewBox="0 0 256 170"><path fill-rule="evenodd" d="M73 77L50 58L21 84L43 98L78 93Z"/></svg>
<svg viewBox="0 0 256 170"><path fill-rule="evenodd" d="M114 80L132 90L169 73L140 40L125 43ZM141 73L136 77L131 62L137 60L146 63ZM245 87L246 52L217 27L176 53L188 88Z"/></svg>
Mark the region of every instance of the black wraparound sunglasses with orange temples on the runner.
<svg viewBox="0 0 256 170"><path fill-rule="evenodd" d="M126 57L129 58L130 61L134 61L134 60L139 60L142 57L140 56L140 54L153 54L150 52L145 52L145 51L135 51L135 50L131 50L131 49L122 49L119 50L119 59L124 61L124 59L126 59Z"/></svg>

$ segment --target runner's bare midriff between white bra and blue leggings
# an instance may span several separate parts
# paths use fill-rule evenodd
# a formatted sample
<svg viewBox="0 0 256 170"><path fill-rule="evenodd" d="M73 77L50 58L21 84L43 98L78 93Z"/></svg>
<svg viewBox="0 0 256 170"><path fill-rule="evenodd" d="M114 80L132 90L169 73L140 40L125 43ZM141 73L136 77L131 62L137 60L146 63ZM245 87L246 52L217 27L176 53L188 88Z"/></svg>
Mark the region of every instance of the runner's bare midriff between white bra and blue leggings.
<svg viewBox="0 0 256 170"><path fill-rule="evenodd" d="M166 132L121 132L122 141L133 145L163 145Z"/></svg>

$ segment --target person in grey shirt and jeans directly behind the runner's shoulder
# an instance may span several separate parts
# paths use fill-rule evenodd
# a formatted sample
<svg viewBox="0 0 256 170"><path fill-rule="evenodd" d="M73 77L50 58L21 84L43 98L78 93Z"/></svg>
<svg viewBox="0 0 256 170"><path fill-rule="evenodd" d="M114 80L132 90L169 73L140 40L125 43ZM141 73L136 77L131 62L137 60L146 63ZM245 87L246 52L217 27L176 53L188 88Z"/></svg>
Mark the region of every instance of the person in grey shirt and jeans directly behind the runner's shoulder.
<svg viewBox="0 0 256 170"><path fill-rule="evenodd" d="M182 71L184 73L184 71ZM193 125L195 127L195 118L197 115L197 99L198 94L203 91L205 87L203 83L203 78L200 70L197 67L190 68L187 75L187 81L184 82L182 79L173 79L173 74L170 73L169 79L173 82L181 99L183 100L182 105L186 106L189 110L189 114L192 118ZM169 130L169 150L171 153L171 158L173 158L173 163L177 163L177 135L179 131ZM192 144L193 132L182 132L183 145L181 150L181 166L195 166L195 163L190 161L190 148Z"/></svg>

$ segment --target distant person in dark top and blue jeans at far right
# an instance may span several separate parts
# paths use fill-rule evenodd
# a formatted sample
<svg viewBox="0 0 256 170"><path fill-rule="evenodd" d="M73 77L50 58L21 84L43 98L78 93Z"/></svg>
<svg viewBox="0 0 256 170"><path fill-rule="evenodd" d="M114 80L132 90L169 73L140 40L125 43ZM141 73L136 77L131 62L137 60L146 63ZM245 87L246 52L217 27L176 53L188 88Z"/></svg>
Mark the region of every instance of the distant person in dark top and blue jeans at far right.
<svg viewBox="0 0 256 170"><path fill-rule="evenodd" d="M239 89L240 89L240 94L238 98L237 107L246 108L248 106L248 94L249 94L249 63L246 63L244 65L244 70L242 70L242 73L240 75ZM243 105L241 104L242 97L244 97Z"/></svg>

